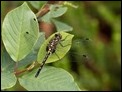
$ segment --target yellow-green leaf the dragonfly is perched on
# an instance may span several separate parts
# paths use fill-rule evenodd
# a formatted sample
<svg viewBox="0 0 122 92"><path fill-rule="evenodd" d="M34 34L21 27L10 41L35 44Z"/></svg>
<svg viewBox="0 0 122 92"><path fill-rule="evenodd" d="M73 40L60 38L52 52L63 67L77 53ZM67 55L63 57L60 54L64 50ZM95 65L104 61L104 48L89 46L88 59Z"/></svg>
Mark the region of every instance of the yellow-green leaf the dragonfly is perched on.
<svg viewBox="0 0 122 92"><path fill-rule="evenodd" d="M59 33L59 32L56 32ZM56 34L55 33L55 34ZM52 37L54 37L54 35L51 35L40 47L39 49L39 53L37 56L37 61L39 63L41 63L46 55L46 46L49 43L49 41L52 39ZM63 32L61 31L60 34L62 35L62 40L65 39L64 41L61 41L61 44L65 47L62 47L60 44L57 45L56 51L55 53L58 55L58 57L61 59L63 58L66 53L70 50L71 48L71 44L72 44L72 38L74 35L71 35L69 33ZM57 60L59 60L59 58L57 57L57 55L53 53L52 55L50 55L46 61L46 63L50 63L50 62L55 62Z"/></svg>

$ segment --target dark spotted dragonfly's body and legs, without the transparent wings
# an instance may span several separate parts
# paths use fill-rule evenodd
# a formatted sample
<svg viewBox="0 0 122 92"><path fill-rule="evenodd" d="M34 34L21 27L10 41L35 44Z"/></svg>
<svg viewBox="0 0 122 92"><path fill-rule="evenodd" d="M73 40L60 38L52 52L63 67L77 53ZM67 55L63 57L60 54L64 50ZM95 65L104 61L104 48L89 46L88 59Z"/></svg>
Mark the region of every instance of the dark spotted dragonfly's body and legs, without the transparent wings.
<svg viewBox="0 0 122 92"><path fill-rule="evenodd" d="M54 35L54 37L49 41L49 43L47 44L47 46L46 46L46 55L45 55L45 57L44 57L44 59L43 59L43 61L42 61L42 63L41 63L41 65L40 65L40 67L39 67L39 69L38 69L38 71L37 71L37 73L36 73L36 75L35 75L35 77L38 77L38 75L40 74L40 72L41 72L41 70L42 70L42 68L43 68L43 66L45 65L45 62L46 62L46 60L48 59L48 57L51 55L51 54L53 54L53 53L55 53L56 54L56 48L57 48L57 45L58 44L60 44L60 46L62 46L62 47L66 47L66 46L68 46L68 45L70 45L70 44L68 44L68 45L62 45L62 41L64 41L66 38L67 38L68 36L66 36L64 39L62 39L62 35L60 34L60 33L56 33L55 35ZM59 58L59 56L56 54L56 56ZM59 58L60 59L60 58Z"/></svg>

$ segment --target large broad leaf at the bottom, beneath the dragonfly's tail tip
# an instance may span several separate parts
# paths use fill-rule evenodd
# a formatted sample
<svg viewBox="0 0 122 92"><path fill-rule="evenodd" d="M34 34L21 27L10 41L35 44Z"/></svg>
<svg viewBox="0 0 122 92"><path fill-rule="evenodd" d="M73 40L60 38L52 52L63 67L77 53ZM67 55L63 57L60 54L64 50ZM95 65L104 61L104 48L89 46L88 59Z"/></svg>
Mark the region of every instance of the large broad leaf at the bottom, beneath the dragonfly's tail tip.
<svg viewBox="0 0 122 92"><path fill-rule="evenodd" d="M80 91L73 77L61 68L44 67L35 78L36 72L19 78L20 85L29 91Z"/></svg>

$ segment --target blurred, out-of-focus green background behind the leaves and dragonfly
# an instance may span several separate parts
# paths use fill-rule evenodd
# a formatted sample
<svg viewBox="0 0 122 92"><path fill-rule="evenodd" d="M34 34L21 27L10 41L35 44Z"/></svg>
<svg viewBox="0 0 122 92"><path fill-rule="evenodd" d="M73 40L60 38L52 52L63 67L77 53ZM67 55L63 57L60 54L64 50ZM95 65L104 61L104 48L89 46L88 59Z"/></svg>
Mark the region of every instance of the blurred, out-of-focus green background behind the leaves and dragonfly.
<svg viewBox="0 0 122 92"><path fill-rule="evenodd" d="M5 15L23 1L1 1L1 23ZM85 39L71 51L87 54L78 57L68 54L52 65L70 72L81 90L121 90L121 2L74 1L78 8L58 18L71 25L74 39ZM32 6L30 6L32 8ZM33 9L33 8L32 8ZM34 11L36 11L34 9ZM74 61L74 62L73 62ZM83 63L86 61L85 63ZM17 83L18 84L18 83ZM8 90L24 90L19 84Z"/></svg>

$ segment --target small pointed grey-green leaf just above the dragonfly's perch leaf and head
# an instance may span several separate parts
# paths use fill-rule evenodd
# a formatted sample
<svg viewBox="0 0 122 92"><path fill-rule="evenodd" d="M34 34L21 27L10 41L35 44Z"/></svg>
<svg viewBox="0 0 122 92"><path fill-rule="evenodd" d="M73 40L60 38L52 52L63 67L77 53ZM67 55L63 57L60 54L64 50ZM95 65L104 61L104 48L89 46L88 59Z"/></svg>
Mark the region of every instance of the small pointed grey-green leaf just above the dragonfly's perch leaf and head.
<svg viewBox="0 0 122 92"><path fill-rule="evenodd" d="M65 23L62 23L60 21L57 20L52 20L53 23L55 24L57 31L72 31L73 28Z"/></svg>

